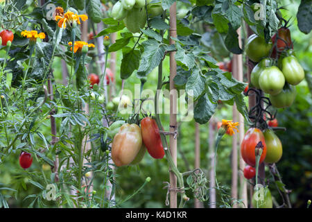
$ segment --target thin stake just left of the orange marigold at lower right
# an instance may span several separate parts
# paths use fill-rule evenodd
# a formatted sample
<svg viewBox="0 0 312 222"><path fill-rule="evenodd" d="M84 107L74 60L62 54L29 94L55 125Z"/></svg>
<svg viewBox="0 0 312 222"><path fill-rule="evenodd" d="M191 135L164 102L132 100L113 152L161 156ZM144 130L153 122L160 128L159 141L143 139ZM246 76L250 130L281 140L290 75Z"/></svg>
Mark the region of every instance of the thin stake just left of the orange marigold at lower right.
<svg viewBox="0 0 312 222"><path fill-rule="evenodd" d="M209 121L209 206L216 208L216 178L214 177L214 119Z"/></svg>

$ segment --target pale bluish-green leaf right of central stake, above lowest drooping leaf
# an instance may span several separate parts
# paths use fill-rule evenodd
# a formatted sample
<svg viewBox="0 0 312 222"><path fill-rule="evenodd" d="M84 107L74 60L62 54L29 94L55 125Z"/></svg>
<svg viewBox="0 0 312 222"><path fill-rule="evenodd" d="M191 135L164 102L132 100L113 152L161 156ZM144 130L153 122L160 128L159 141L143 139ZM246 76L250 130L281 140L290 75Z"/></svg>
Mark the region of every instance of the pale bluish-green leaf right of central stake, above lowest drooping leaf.
<svg viewBox="0 0 312 222"><path fill-rule="evenodd" d="M187 91L192 89L194 99L198 99L198 96L205 90L205 78L200 74L199 69L193 69L191 76L189 76L186 85Z"/></svg>

